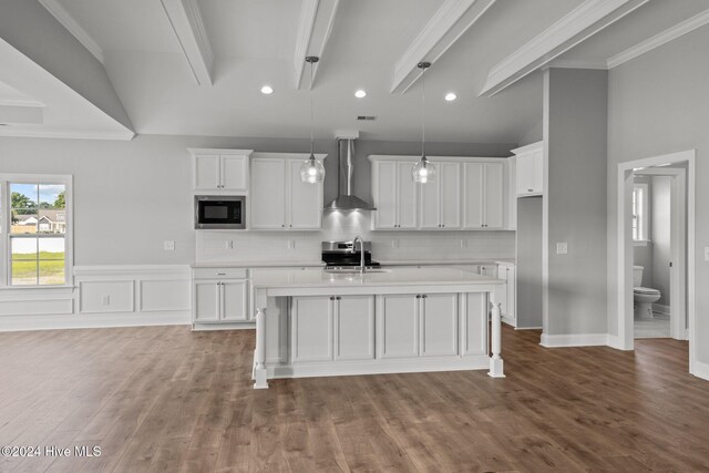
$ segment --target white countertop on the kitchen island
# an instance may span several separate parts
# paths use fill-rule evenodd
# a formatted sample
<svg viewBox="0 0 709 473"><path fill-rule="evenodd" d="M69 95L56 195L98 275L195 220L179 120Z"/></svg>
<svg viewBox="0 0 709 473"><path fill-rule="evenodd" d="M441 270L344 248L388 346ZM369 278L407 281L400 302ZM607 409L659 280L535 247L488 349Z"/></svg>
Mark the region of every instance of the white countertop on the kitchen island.
<svg viewBox="0 0 709 473"><path fill-rule="evenodd" d="M323 269L301 271L254 270L251 285L255 289L268 288L332 288L332 287L383 287L383 286L485 286L505 281L453 268L390 268L363 275L332 274Z"/></svg>

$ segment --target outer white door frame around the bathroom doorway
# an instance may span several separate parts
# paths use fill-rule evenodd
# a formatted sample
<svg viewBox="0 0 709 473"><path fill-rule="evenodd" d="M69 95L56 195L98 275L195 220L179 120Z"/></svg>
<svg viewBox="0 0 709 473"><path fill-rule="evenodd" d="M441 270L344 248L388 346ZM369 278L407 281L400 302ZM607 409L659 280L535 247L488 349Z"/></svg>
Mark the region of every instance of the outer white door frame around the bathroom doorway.
<svg viewBox="0 0 709 473"><path fill-rule="evenodd" d="M635 171L662 164L687 163L687 315L689 325L689 372L697 364L695 291L695 183L696 151L664 154L618 164L617 179L617 330L618 348L633 350L633 227L630 222Z"/></svg>

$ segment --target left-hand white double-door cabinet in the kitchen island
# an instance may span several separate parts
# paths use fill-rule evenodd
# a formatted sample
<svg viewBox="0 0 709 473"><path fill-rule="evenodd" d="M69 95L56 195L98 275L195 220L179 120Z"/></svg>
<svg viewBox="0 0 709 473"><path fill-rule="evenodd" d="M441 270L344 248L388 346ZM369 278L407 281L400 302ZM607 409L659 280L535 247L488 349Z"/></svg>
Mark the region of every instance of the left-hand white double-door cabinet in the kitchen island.
<svg viewBox="0 0 709 473"><path fill-rule="evenodd" d="M374 297L294 297L292 363L374 358Z"/></svg>

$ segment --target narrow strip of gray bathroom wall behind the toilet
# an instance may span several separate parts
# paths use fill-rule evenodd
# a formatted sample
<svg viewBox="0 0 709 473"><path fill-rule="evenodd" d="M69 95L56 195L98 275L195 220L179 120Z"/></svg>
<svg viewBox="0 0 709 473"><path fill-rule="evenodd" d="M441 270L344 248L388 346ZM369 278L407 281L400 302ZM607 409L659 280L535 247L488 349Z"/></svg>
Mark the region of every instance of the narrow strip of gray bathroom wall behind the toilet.
<svg viewBox="0 0 709 473"><path fill-rule="evenodd" d="M654 176L651 186L650 214L653 215L653 287L660 291L658 305L669 306L669 261L670 253L670 179Z"/></svg>

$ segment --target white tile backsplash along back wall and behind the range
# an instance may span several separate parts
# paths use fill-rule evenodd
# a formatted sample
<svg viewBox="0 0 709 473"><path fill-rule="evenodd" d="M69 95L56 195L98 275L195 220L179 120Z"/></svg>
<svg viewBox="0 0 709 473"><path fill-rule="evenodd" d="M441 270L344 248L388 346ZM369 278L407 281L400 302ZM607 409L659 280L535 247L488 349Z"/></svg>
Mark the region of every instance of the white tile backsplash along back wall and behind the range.
<svg viewBox="0 0 709 473"><path fill-rule="evenodd" d="M349 240L360 235L372 241L374 260L446 260L514 258L515 233L500 232L373 232L364 214L327 215L319 232L198 230L197 261L320 260L320 241Z"/></svg>

